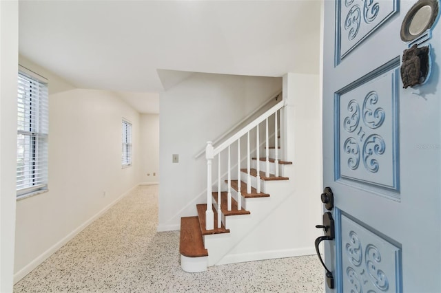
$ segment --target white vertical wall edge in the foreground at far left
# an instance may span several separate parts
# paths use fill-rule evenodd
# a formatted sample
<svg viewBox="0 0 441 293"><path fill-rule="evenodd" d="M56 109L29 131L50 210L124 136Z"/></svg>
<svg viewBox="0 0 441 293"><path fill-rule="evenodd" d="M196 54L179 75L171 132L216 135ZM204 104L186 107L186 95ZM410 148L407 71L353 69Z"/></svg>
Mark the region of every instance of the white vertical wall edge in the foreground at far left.
<svg viewBox="0 0 441 293"><path fill-rule="evenodd" d="M0 292L12 292L14 268L18 1L0 1Z"/></svg>

